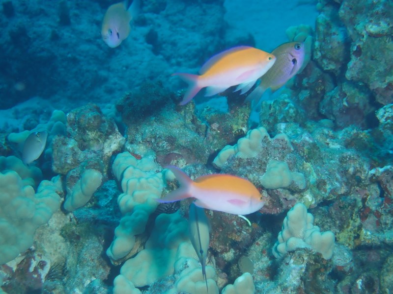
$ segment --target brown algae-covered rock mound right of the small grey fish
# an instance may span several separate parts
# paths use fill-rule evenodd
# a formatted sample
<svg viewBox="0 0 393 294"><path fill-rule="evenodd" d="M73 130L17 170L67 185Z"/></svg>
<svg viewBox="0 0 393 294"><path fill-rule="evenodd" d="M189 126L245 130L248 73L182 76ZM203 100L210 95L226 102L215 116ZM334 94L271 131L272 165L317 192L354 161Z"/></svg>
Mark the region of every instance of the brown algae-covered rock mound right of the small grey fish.
<svg viewBox="0 0 393 294"><path fill-rule="evenodd" d="M114 121L91 103L67 114L66 131L52 143L52 168L61 174L81 166L106 174L110 157L125 143Z"/></svg>

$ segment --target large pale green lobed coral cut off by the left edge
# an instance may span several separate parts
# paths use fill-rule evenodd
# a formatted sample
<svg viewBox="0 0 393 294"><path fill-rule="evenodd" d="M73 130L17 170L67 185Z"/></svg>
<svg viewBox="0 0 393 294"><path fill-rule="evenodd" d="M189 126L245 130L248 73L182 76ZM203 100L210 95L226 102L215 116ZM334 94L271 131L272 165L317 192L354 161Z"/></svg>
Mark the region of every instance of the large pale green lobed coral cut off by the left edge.
<svg viewBox="0 0 393 294"><path fill-rule="evenodd" d="M56 184L42 181L37 188L25 184L17 172L0 173L0 264L5 264L33 244L35 230L60 207Z"/></svg>

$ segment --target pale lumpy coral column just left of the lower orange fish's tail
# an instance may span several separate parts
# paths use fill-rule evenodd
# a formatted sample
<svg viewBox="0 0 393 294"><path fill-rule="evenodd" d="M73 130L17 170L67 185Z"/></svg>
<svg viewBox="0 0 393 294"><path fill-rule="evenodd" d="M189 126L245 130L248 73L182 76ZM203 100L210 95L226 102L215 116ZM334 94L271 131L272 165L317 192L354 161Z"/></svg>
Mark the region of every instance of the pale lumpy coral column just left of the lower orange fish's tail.
<svg viewBox="0 0 393 294"><path fill-rule="evenodd" d="M155 199L161 196L164 182L154 157L138 160L129 152L123 152L116 156L112 170L123 191L117 197L123 217L107 250L107 255L116 261L130 254L136 242L135 236L144 232L149 215L158 206ZM130 256L134 254L132 252Z"/></svg>

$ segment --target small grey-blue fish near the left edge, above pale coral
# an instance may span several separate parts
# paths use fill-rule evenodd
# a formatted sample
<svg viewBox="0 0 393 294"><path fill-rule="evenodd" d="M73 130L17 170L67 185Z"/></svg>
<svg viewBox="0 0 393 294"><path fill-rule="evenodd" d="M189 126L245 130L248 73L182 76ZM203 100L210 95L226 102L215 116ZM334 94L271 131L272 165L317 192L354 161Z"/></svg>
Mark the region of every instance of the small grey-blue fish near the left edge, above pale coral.
<svg viewBox="0 0 393 294"><path fill-rule="evenodd" d="M36 160L45 149L48 132L33 132L28 135L22 151L22 160L24 164L30 164Z"/></svg>

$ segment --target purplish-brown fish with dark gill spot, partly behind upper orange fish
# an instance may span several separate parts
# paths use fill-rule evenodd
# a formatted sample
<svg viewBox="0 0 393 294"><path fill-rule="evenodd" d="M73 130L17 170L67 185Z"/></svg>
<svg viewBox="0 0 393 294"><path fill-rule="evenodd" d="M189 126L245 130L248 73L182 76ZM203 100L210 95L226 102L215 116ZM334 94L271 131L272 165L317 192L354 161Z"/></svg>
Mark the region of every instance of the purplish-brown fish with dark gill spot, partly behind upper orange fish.
<svg viewBox="0 0 393 294"><path fill-rule="evenodd" d="M302 42L281 44L272 51L277 60L272 68L261 77L259 85L247 96L245 101L251 101L255 109L263 99L267 89L272 92L280 89L285 83L299 72L305 58L305 45Z"/></svg>

